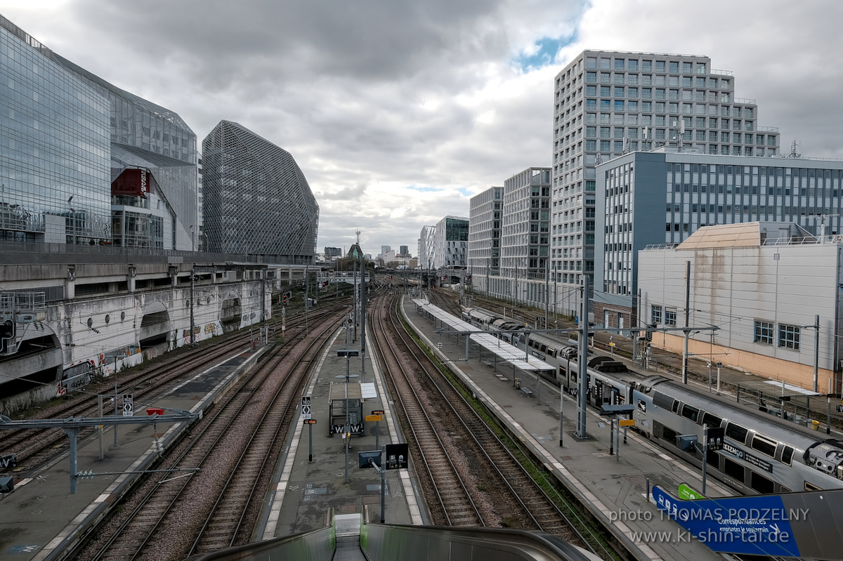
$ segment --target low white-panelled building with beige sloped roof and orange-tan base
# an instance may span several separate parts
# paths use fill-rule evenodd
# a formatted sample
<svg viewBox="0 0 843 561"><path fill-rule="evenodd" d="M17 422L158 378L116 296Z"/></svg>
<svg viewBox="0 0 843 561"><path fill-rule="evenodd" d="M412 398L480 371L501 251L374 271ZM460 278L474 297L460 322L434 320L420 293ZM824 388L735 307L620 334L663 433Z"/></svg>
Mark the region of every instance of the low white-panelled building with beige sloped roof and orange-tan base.
<svg viewBox="0 0 843 561"><path fill-rule="evenodd" d="M771 393L781 381L839 393L841 271L839 234L813 236L788 222L701 227L679 245L640 252L642 323L685 325L687 293L688 324L719 328L691 332L688 350L697 359L769 377ZM655 333L651 344L681 353L683 334Z"/></svg>

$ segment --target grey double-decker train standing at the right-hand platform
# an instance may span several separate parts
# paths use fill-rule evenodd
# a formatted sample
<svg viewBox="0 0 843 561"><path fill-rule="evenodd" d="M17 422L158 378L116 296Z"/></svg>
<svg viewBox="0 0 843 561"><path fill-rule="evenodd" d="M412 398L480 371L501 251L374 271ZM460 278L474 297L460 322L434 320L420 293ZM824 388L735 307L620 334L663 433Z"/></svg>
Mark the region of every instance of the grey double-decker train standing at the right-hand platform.
<svg viewBox="0 0 843 561"><path fill-rule="evenodd" d="M531 355L556 367L542 376L567 393L577 393L576 345L528 333L523 323L480 308L465 308L463 320L512 345L524 348L526 339ZM843 488L841 441L666 377L644 376L609 356L590 356L586 372L589 405L635 405L636 430L697 467L701 454L680 448L677 436L695 435L702 442L706 426L722 427L723 448L706 454L707 468L744 494Z"/></svg>

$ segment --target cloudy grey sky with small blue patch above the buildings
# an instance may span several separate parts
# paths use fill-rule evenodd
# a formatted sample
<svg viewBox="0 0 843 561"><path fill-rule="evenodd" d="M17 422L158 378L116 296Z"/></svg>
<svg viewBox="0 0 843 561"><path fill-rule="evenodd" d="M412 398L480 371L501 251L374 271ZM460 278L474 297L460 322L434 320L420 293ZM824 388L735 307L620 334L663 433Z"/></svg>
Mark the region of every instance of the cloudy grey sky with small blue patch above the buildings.
<svg viewBox="0 0 843 561"><path fill-rule="evenodd" d="M178 112L293 154L319 250L410 246L550 166L553 78L583 49L711 56L760 126L843 158L843 3L806 0L0 0L35 39Z"/></svg>

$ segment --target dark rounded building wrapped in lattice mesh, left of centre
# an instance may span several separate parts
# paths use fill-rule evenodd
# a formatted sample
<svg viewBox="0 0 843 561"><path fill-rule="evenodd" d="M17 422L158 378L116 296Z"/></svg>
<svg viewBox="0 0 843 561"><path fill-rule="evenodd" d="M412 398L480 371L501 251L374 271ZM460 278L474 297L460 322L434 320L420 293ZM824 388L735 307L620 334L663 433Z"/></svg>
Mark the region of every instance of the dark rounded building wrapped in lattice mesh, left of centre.
<svg viewBox="0 0 843 561"><path fill-rule="evenodd" d="M202 141L202 161L210 251L312 262L319 206L289 152L221 120Z"/></svg>

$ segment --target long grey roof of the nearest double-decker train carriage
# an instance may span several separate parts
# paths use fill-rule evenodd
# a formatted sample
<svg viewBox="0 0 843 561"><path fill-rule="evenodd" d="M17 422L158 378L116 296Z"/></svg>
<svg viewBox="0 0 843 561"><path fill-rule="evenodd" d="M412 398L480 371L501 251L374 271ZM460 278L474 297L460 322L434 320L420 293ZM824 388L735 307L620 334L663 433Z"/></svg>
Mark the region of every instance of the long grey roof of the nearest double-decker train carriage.
<svg viewBox="0 0 843 561"><path fill-rule="evenodd" d="M745 405L738 405L729 399L697 392L690 387L674 382L667 378L653 380L652 389L667 394L679 401L699 407L711 414L724 419L729 419L738 425L752 430L759 431L762 435L769 436L777 441L795 446L800 450L808 450L817 442L827 440L821 438L816 432L803 428L800 425L783 420L775 415L765 414L761 411L751 409ZM775 408L779 403L770 403Z"/></svg>

